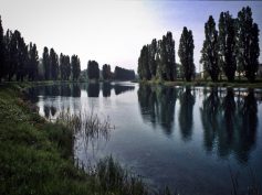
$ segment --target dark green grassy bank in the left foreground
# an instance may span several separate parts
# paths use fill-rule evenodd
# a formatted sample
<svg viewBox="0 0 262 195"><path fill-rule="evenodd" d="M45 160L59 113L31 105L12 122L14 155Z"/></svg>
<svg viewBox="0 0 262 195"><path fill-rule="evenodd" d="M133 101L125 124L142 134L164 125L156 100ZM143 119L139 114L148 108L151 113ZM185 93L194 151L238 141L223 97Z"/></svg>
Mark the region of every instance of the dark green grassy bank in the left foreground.
<svg viewBox="0 0 262 195"><path fill-rule="evenodd" d="M0 86L1 195L150 194L139 177L112 158L87 173L76 167L72 131L38 115L21 95L28 85Z"/></svg>

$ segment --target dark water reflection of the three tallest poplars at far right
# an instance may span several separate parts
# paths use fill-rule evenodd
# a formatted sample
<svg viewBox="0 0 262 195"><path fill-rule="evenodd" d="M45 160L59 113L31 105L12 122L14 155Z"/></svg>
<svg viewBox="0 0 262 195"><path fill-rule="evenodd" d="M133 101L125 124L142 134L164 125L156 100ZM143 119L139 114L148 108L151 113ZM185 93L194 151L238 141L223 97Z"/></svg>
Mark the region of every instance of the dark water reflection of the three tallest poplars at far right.
<svg viewBox="0 0 262 195"><path fill-rule="evenodd" d="M208 152L217 150L220 158L228 158L233 152L240 163L247 163L255 145L258 126L254 91L239 94L237 102L232 89L227 89L222 96L220 91L219 97L218 89L212 88L200 108L203 145Z"/></svg>

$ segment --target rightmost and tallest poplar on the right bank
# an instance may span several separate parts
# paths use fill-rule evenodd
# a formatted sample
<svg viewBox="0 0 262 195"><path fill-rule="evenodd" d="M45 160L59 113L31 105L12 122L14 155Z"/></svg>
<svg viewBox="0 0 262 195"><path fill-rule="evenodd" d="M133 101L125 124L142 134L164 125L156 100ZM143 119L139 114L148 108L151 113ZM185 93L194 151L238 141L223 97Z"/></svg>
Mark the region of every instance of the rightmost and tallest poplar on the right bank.
<svg viewBox="0 0 262 195"><path fill-rule="evenodd" d="M254 82L259 67L259 28L253 22L250 7L238 13L238 68L244 71L245 77Z"/></svg>

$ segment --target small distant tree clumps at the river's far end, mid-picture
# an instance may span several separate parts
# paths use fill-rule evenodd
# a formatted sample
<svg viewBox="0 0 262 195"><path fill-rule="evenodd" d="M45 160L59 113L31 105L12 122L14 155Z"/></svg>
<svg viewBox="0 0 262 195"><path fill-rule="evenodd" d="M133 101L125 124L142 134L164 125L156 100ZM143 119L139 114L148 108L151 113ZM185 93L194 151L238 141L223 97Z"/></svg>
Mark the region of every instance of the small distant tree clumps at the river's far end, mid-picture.
<svg viewBox="0 0 262 195"><path fill-rule="evenodd" d="M87 63L87 77L88 79L96 79L99 78L104 80L134 80L135 79L135 72L133 69L126 69L119 66L115 67L114 73L111 72L111 65L104 64L102 66L102 75L99 71L99 65L96 61L88 61Z"/></svg>

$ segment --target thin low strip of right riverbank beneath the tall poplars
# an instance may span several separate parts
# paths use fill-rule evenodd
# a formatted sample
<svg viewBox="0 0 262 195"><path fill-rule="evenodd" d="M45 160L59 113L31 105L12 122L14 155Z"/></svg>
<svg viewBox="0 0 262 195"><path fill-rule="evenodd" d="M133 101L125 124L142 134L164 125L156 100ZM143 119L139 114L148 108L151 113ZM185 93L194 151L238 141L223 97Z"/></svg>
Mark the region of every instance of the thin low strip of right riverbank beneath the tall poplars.
<svg viewBox="0 0 262 195"><path fill-rule="evenodd" d="M192 82L159 82L159 80L140 80L139 84L164 85L164 86L195 86L195 87L243 87L243 88L262 88L262 80L248 83L247 80L235 82L211 82L211 80L192 80Z"/></svg>

